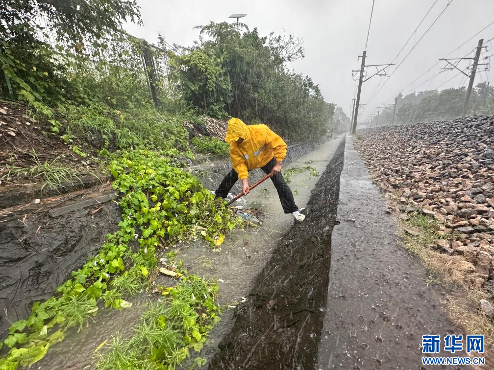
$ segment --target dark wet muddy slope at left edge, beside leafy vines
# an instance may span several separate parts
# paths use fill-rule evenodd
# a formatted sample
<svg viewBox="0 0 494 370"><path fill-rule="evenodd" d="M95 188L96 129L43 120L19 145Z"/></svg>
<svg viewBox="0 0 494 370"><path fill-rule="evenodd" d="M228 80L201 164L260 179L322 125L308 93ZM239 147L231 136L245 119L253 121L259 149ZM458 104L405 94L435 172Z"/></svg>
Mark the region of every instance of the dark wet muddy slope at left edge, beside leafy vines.
<svg viewBox="0 0 494 370"><path fill-rule="evenodd" d="M95 205L77 207L113 193L110 185L101 185L76 192L77 196L0 210L0 338L11 323L29 315L35 301L52 296L99 250L106 234L117 229L120 210L115 202L95 200ZM77 209L51 216L70 205Z"/></svg>

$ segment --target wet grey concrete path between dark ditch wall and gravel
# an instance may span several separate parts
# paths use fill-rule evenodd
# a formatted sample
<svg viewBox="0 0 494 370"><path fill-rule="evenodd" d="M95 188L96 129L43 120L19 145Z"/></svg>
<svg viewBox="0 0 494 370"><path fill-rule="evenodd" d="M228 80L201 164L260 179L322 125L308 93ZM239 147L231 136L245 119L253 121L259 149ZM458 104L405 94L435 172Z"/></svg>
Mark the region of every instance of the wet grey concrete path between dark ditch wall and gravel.
<svg viewBox="0 0 494 370"><path fill-rule="evenodd" d="M444 292L427 287L424 267L400 245L396 221L386 214L385 200L372 185L351 136L337 215L341 224L331 238L317 369L426 369L421 364L422 335L444 338L461 332L439 305Z"/></svg>

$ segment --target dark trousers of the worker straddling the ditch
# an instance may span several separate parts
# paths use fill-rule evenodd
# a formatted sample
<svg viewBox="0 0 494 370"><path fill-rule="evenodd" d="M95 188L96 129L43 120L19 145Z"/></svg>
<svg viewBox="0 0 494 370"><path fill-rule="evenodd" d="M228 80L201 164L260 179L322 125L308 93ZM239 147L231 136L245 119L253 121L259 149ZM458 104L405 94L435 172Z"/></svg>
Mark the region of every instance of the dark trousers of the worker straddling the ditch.
<svg viewBox="0 0 494 370"><path fill-rule="evenodd" d="M261 167L261 170L263 170L266 174L269 174L275 164L276 164L276 160L273 158L266 165ZM228 193L230 192L233 185L235 185L238 179L239 179L239 175L237 174L237 171L235 171L232 168L232 170L228 173L228 175L225 176L221 184L216 189L215 194L221 198L226 198L226 196L228 195ZM298 207L296 206L295 201L293 200L293 194L290 188L288 187L287 183L285 183L285 180L283 180L283 176L281 172L275 176L272 176L271 180L273 181L273 185L275 185L276 190L278 191L278 196L280 197L280 202L281 202L281 206L283 207L283 211L285 213L292 213L298 211Z"/></svg>

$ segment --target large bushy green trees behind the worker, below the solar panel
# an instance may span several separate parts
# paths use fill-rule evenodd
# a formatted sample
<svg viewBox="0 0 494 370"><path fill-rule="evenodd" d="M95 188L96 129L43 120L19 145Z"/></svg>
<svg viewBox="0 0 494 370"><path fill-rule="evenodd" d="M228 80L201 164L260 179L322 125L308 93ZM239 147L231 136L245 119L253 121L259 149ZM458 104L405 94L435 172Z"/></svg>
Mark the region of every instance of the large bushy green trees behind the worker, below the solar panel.
<svg viewBox="0 0 494 370"><path fill-rule="evenodd" d="M228 23L198 26L197 45L173 55L171 78L187 104L219 118L227 112L247 122L268 123L286 138L324 135L334 106L308 76L285 67L287 61L303 58L300 40L261 37L257 29L241 27L246 31Z"/></svg>

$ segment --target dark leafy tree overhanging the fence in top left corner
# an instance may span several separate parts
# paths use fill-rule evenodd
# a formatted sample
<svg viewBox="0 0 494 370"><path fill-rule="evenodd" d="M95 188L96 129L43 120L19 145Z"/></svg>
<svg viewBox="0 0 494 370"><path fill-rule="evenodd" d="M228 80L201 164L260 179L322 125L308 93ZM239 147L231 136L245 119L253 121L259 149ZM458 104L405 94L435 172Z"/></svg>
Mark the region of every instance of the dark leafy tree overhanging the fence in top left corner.
<svg viewBox="0 0 494 370"><path fill-rule="evenodd" d="M0 79L0 88L37 109L70 100L103 101L93 89L99 81L91 82L82 75L82 69L91 67L93 74L102 71L103 66L88 64L89 53L93 60L101 54L123 21L140 22L133 0L1 0L0 18L4 20L0 25L0 65L7 76ZM56 47L50 43L53 34ZM81 68L81 62L87 68ZM90 85L82 85L84 80Z"/></svg>

